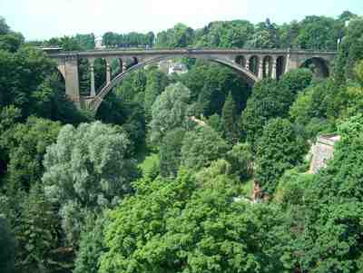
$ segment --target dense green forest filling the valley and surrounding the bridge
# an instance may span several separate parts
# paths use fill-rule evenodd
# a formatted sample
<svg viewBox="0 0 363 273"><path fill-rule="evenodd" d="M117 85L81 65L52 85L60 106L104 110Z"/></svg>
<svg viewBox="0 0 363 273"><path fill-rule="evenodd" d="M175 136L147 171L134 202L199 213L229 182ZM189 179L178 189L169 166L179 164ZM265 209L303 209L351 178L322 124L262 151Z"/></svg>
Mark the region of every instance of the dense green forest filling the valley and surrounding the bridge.
<svg viewBox="0 0 363 273"><path fill-rule="evenodd" d="M0 17L1 273L363 272L363 17L106 33L110 47L338 56L329 78L308 67L253 87L203 60L149 66L96 113L65 96L46 44L93 49L94 35L29 42ZM325 133L334 157L309 173Z"/></svg>

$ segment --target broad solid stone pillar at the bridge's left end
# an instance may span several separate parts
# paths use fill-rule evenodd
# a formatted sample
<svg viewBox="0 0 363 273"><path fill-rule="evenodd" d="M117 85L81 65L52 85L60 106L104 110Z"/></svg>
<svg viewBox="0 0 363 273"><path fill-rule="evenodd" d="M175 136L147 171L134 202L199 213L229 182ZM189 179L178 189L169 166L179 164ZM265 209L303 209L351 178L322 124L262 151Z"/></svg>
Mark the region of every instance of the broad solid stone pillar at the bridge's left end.
<svg viewBox="0 0 363 273"><path fill-rule="evenodd" d="M78 107L80 106L80 92L78 79L78 58L77 55L65 57L64 63L65 93Z"/></svg>

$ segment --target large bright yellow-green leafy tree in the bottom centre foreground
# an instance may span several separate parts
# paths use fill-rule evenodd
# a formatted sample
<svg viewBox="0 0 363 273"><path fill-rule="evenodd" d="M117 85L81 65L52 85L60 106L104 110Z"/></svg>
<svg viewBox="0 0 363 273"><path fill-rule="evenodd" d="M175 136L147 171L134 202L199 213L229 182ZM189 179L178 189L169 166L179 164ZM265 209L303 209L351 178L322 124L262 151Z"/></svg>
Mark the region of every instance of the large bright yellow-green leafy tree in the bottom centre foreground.
<svg viewBox="0 0 363 273"><path fill-rule="evenodd" d="M281 272L278 210L234 202L230 182L139 181L109 214L100 272Z"/></svg>

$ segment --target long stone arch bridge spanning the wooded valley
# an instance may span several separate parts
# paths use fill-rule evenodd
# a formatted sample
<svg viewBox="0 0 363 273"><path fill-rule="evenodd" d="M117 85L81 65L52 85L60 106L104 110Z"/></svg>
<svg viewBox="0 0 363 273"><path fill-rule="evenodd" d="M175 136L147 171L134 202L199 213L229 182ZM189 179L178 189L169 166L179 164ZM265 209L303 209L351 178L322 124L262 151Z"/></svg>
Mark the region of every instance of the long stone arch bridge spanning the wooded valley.
<svg viewBox="0 0 363 273"><path fill-rule="evenodd" d="M45 50L46 52L46 50ZM279 79L283 73L302 66L313 65L319 76L329 76L337 52L301 50L250 50L250 49L136 49L136 50L94 50L83 52L48 52L57 62L58 70L64 76L65 93L78 106L96 112L103 98L123 78L145 65L162 60L190 57L221 63L239 73L250 85L263 78ZM94 61L101 58L106 65L106 83L95 90ZM89 63L91 90L82 96L79 89L79 60ZM112 63L117 60L118 73L112 74Z"/></svg>

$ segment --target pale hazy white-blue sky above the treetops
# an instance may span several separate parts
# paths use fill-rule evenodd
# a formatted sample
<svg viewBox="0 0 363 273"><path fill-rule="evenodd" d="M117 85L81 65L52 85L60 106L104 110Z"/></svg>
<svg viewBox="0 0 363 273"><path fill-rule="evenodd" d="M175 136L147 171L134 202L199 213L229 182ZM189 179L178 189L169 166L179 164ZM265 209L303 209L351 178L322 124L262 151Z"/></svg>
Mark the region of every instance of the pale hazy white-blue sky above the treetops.
<svg viewBox="0 0 363 273"><path fill-rule="evenodd" d="M306 15L363 15L363 0L0 0L0 16L26 40L131 31L155 33L183 23L245 19L277 24Z"/></svg>

